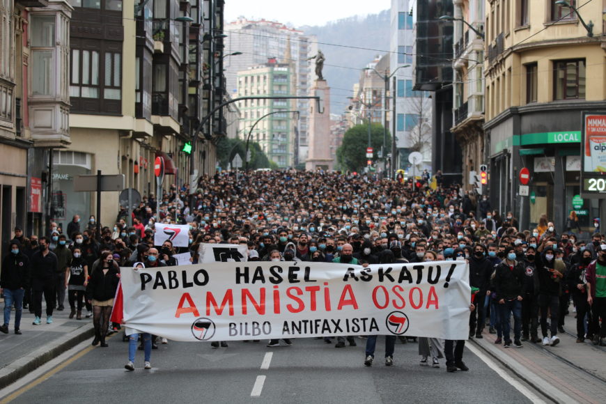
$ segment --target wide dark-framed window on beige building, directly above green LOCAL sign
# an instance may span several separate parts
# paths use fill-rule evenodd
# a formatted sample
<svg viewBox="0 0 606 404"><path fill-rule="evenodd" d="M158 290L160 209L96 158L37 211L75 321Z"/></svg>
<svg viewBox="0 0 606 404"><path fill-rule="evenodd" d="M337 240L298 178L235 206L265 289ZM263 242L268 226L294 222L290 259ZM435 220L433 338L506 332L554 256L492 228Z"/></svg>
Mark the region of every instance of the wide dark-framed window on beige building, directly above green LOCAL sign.
<svg viewBox="0 0 606 404"><path fill-rule="evenodd" d="M554 61L554 100L584 100L585 60Z"/></svg>

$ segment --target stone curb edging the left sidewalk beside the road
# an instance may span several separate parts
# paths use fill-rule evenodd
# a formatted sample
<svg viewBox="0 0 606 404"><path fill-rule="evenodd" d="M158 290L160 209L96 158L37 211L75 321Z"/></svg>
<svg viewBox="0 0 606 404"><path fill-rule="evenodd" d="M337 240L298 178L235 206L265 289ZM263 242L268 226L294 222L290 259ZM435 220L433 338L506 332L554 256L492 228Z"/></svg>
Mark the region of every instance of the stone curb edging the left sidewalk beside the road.
<svg viewBox="0 0 606 404"><path fill-rule="evenodd" d="M34 369L42 366L50 360L58 357L63 352L70 350L82 341L91 338L95 334L93 324L83 325L55 339L47 346L30 352L29 355L20 357L15 362L0 369L0 389L24 377Z"/></svg>

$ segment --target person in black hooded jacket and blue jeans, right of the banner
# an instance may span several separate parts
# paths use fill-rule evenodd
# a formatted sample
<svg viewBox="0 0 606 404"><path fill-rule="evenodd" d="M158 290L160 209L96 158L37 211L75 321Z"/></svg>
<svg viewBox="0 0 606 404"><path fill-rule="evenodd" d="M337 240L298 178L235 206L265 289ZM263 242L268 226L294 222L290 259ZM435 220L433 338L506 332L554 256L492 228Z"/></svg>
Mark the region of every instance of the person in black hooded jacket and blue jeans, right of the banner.
<svg viewBox="0 0 606 404"><path fill-rule="evenodd" d="M522 348L522 300L526 294L525 274L522 263L515 261L515 250L507 247L505 260L495 268L493 285L497 293L504 348L511 347L510 328L513 313L513 345Z"/></svg>

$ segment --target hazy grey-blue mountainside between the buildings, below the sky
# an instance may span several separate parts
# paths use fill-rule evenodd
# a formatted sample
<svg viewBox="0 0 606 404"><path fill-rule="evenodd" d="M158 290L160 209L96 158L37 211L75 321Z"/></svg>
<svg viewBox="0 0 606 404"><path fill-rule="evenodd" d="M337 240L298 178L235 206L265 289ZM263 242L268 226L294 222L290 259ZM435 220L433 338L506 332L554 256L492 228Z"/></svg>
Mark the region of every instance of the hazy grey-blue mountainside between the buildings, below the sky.
<svg viewBox="0 0 606 404"><path fill-rule="evenodd" d="M375 56L389 51L389 18L390 11L384 10L364 17L336 20L323 26L297 28L307 35L318 37L318 48L326 58L323 75L331 88L332 114L341 114L348 107L348 97L354 95L352 86L359 81L361 70Z"/></svg>

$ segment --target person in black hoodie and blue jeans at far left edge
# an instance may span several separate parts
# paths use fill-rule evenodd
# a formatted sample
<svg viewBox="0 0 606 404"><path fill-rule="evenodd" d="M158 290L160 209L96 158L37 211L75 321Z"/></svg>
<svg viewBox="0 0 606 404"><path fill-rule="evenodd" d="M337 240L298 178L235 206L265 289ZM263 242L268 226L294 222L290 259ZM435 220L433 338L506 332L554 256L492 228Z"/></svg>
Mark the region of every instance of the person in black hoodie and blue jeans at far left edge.
<svg viewBox="0 0 606 404"><path fill-rule="evenodd" d="M15 304L15 334L21 334L21 314L23 312L23 297L29 288L29 258L21 251L21 244L15 240L10 242L10 254L2 260L0 272L0 293L4 293L4 323L0 331L8 334L10 310Z"/></svg>

